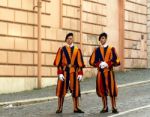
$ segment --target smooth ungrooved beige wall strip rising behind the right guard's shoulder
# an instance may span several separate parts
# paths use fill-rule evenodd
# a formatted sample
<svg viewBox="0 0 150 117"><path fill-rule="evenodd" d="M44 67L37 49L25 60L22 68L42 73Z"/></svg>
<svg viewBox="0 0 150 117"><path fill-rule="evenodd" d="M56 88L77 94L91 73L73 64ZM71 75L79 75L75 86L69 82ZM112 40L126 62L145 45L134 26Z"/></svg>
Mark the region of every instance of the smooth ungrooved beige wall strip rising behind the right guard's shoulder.
<svg viewBox="0 0 150 117"><path fill-rule="evenodd" d="M107 27L108 43L119 49L119 7L118 0L107 1ZM119 53L118 53L119 54Z"/></svg>

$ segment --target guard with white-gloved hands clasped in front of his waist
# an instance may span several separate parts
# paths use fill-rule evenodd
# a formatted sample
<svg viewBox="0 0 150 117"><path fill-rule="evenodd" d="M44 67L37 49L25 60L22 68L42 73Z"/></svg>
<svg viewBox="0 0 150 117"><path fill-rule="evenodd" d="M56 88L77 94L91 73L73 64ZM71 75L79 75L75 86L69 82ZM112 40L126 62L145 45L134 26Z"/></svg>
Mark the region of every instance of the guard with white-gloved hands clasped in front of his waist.
<svg viewBox="0 0 150 117"><path fill-rule="evenodd" d="M108 112L107 96L110 96L111 99L112 113L118 113L116 108L118 88L113 67L119 66L120 60L117 56L115 48L107 45L106 33L100 34L99 41L100 46L94 49L89 63L98 70L96 92L99 97L102 97L103 102L103 109L100 113Z"/></svg>

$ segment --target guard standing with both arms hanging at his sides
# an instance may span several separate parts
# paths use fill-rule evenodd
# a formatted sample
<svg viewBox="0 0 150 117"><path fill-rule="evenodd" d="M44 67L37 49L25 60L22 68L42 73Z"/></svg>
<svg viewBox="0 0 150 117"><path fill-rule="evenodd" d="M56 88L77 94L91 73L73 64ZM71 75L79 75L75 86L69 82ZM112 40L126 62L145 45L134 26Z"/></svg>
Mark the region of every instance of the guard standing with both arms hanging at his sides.
<svg viewBox="0 0 150 117"><path fill-rule="evenodd" d="M58 96L58 109L56 113L62 113L64 97L70 91L74 104L74 113L84 113L79 109L80 81L83 78L85 67L81 50L73 44L73 33L66 35L66 46L60 47L54 60L54 66L58 68L58 81L56 96Z"/></svg>

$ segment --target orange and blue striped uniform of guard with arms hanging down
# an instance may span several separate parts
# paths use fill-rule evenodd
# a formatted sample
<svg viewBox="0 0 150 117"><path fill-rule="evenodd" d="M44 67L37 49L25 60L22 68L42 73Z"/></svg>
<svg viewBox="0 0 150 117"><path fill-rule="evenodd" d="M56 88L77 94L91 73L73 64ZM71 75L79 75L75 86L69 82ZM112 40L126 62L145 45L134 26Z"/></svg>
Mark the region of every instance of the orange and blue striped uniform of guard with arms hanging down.
<svg viewBox="0 0 150 117"><path fill-rule="evenodd" d="M85 67L81 50L77 47L64 46L58 49L54 66L57 66L57 74L63 74L64 81L58 79L56 96L63 97L68 89L73 97L80 97L80 83L78 75L83 75L82 68Z"/></svg>

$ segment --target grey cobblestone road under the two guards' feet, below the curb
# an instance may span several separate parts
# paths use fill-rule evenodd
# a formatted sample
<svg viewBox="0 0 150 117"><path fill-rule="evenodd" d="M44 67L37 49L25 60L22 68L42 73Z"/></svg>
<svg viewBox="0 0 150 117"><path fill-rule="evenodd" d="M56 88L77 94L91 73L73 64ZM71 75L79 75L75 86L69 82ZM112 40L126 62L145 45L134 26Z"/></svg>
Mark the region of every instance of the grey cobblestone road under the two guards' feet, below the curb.
<svg viewBox="0 0 150 117"><path fill-rule="evenodd" d="M95 93L84 94L80 100L84 114L74 114L72 110L71 97L65 98L62 114L55 114L57 100L50 102L24 105L13 108L0 108L0 117L111 117L111 106L109 113L100 114L102 108L101 99ZM119 88L117 105L120 114L134 108L150 105L150 83ZM150 108L136 110L118 117L149 117ZM112 116L113 117L113 116Z"/></svg>

